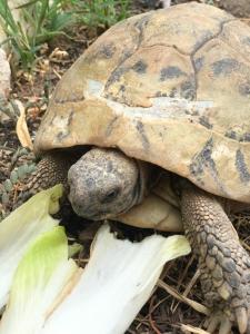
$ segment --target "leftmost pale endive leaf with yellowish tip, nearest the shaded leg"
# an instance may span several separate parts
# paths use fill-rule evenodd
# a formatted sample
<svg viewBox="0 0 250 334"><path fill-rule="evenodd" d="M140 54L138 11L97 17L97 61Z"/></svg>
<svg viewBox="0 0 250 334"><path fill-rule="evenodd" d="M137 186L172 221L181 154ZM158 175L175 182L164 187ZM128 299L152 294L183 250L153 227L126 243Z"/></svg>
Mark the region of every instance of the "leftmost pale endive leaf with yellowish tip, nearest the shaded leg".
<svg viewBox="0 0 250 334"><path fill-rule="evenodd" d="M41 233L58 225L59 222L49 214L58 210L61 195L61 186L41 191L1 222L0 308L7 303L14 271L30 243Z"/></svg>

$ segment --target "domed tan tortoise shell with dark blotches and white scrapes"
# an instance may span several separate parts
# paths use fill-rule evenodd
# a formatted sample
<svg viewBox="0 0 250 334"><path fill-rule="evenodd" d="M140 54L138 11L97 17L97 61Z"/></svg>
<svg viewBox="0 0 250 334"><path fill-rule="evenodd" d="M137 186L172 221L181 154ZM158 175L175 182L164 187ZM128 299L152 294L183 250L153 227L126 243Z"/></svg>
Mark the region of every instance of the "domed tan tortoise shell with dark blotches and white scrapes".
<svg viewBox="0 0 250 334"><path fill-rule="evenodd" d="M66 72L36 151L117 147L250 203L250 28L201 3L110 28Z"/></svg>

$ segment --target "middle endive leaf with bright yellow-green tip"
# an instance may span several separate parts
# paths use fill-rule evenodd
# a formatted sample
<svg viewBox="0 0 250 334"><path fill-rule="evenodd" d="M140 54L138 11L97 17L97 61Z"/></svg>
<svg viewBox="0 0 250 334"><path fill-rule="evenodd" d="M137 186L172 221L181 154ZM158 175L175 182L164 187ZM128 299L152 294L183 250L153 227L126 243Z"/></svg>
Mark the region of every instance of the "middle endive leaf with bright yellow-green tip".
<svg viewBox="0 0 250 334"><path fill-rule="evenodd" d="M0 333L40 333L51 304L78 271L76 263L68 259L63 227L38 237L14 274Z"/></svg>

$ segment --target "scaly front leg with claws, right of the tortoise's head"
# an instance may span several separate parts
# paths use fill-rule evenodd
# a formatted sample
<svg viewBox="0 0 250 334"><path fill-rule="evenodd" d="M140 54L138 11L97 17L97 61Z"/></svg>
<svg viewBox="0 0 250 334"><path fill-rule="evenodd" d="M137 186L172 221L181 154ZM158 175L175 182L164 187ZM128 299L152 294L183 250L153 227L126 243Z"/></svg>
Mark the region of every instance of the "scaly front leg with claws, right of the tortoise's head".
<svg viewBox="0 0 250 334"><path fill-rule="evenodd" d="M211 308L209 332L231 333L233 323L240 333L250 327L250 257L221 204L192 185L181 191L184 229L198 255L201 287Z"/></svg>

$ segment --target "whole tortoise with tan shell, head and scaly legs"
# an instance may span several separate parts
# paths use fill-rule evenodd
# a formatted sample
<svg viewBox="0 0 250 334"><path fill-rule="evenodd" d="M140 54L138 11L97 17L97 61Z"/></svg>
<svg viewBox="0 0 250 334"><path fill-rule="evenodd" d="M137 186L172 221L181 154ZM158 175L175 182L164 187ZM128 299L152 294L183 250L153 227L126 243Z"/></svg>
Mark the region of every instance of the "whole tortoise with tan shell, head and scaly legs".
<svg viewBox="0 0 250 334"><path fill-rule="evenodd" d="M250 203L249 56L250 28L208 4L114 24L57 85L28 183L33 191L68 183L78 215L122 219L139 207L143 214L151 187L168 175L151 209L171 188L199 258L211 333L250 331L250 258L226 214ZM160 220L151 209L148 227Z"/></svg>

